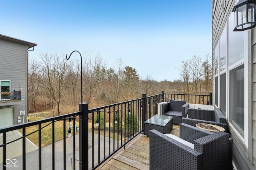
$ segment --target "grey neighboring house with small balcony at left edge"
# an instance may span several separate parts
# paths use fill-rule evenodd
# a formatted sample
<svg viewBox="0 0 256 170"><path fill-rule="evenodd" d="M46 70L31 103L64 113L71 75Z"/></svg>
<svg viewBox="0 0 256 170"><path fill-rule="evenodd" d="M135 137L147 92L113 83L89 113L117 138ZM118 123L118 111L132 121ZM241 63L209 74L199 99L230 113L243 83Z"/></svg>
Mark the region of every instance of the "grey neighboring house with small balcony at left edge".
<svg viewBox="0 0 256 170"><path fill-rule="evenodd" d="M0 34L0 128L26 122L28 49L34 46Z"/></svg>

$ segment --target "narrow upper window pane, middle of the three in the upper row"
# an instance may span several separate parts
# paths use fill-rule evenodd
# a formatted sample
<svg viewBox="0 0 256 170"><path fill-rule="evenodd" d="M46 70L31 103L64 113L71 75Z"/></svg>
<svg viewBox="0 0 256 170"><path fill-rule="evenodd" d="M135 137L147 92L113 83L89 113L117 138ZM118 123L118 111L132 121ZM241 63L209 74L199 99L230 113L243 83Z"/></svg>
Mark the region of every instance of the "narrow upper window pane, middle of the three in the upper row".
<svg viewBox="0 0 256 170"><path fill-rule="evenodd" d="M227 52L227 39L226 39L226 26L220 36L220 71L226 69L226 52Z"/></svg>

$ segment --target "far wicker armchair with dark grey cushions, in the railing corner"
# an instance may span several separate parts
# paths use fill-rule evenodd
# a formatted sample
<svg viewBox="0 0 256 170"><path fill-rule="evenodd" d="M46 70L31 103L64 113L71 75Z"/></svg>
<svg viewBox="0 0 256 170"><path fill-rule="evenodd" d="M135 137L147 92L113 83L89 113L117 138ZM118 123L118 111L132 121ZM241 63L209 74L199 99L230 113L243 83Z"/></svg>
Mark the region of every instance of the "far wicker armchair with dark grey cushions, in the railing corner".
<svg viewBox="0 0 256 170"><path fill-rule="evenodd" d="M162 115L172 116L173 124L179 125L182 117L186 117L188 114L188 104L186 101L170 100L161 105Z"/></svg>

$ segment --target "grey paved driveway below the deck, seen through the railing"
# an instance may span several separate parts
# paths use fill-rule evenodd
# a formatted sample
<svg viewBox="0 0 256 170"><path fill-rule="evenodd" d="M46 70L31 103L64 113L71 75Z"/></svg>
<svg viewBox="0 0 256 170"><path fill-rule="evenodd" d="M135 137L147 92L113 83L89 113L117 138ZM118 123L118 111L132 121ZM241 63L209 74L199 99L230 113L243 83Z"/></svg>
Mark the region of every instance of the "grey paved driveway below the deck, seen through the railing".
<svg viewBox="0 0 256 170"><path fill-rule="evenodd" d="M89 146L92 146L92 133L89 133L88 138L88 144ZM98 145L100 144L100 159L104 157L104 137L100 135L100 138L98 137L98 134L94 134L94 164L98 162ZM106 150L105 153L108 154L108 138L106 138ZM110 152L112 152L113 149L113 142L115 141L115 144L117 144L116 140L110 139ZM20 143L21 147L19 148L22 152L22 143ZM89 167L92 166L92 148L88 146L88 155L89 156ZM63 140L58 141L54 143L55 147L55 169L56 170L63 170ZM79 135L76 135L76 143L75 143L75 155L76 160L79 160ZM9 151L8 151L9 152ZM20 153L21 153L20 152ZM1 154L1 152L0 152ZM22 155L22 154L20 154ZM14 164L12 166L8 167L8 170L20 170L22 169L22 156L15 157L16 160L16 167ZM2 156L2 155L1 155ZM13 157L14 158L14 157ZM66 169L72 169L72 158L73 158L73 137L66 139ZM11 158L10 158L11 159ZM34 149L32 152L26 153L26 170L35 170L39 168L38 165L38 148ZM12 159L11 159L12 160ZM2 167L2 163L0 162L0 168ZM79 169L79 162L76 161L76 168ZM48 170L52 169L52 145L47 145L46 147L42 148L42 169Z"/></svg>

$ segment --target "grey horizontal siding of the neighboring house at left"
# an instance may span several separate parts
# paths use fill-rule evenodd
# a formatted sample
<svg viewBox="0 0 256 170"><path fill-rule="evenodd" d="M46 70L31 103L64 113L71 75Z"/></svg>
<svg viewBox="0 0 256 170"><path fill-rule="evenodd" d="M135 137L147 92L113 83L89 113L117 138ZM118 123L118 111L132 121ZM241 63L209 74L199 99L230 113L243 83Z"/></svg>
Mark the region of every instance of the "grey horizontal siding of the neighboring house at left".
<svg viewBox="0 0 256 170"><path fill-rule="evenodd" d="M18 124L18 117L21 123L26 122L28 115L28 48L34 46L34 43L0 35L0 80L10 80L10 91L22 88L20 101L0 101L0 108L14 107L14 125ZM25 111L24 118L20 111Z"/></svg>

